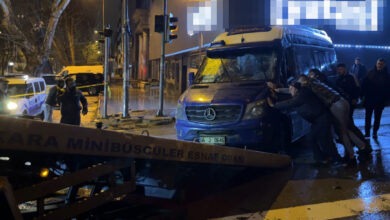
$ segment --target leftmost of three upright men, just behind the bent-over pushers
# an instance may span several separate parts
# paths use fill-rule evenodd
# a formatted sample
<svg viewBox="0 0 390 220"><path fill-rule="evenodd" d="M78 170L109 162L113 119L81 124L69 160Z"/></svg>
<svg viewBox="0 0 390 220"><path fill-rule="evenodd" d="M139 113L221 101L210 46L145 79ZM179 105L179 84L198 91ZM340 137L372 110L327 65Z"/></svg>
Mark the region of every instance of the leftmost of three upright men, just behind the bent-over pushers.
<svg viewBox="0 0 390 220"><path fill-rule="evenodd" d="M359 87L355 78L347 72L347 68L344 63L337 65L338 78L336 81L337 90L349 103L349 116L352 120L353 111L359 98Z"/></svg>

